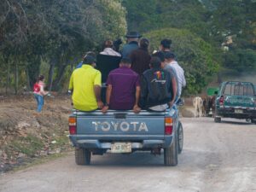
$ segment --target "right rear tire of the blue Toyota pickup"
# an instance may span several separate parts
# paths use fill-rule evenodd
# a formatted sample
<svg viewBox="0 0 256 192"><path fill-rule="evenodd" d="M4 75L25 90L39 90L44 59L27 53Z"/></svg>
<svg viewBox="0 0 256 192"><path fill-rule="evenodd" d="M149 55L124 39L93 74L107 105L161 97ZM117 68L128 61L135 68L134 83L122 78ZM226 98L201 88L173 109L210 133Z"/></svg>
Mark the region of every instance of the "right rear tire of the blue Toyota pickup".
<svg viewBox="0 0 256 192"><path fill-rule="evenodd" d="M177 134L174 137L172 145L164 148L165 166L177 166Z"/></svg>

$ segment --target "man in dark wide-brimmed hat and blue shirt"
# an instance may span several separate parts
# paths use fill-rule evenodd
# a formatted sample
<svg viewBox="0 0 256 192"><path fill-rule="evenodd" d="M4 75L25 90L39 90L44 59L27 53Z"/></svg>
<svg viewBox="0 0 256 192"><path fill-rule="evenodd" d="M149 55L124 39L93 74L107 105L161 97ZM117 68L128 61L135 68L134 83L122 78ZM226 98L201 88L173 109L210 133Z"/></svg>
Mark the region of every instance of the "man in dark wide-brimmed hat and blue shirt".
<svg viewBox="0 0 256 192"><path fill-rule="evenodd" d="M138 49L138 41L142 36L138 32L128 32L125 36L127 38L127 44L124 45L120 51L122 57L129 57L132 50Z"/></svg>

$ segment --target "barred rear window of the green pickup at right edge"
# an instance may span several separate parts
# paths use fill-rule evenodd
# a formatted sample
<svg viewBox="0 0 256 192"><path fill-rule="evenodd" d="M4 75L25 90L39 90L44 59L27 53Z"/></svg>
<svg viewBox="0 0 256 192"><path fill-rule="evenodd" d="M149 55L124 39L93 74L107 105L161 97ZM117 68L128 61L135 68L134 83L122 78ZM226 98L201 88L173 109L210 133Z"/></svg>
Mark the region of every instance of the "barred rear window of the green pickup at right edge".
<svg viewBox="0 0 256 192"><path fill-rule="evenodd" d="M253 96L252 84L226 84L224 96Z"/></svg>

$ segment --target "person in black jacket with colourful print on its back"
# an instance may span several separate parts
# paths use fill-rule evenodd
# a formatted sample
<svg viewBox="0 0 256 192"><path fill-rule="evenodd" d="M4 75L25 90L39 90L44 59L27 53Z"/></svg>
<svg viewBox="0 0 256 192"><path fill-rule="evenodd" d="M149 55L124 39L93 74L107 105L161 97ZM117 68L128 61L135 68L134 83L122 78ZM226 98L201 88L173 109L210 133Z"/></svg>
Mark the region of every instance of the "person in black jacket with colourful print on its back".
<svg viewBox="0 0 256 192"><path fill-rule="evenodd" d="M161 68L160 58L153 56L141 80L140 104L145 109L165 111L173 97L171 73Z"/></svg>

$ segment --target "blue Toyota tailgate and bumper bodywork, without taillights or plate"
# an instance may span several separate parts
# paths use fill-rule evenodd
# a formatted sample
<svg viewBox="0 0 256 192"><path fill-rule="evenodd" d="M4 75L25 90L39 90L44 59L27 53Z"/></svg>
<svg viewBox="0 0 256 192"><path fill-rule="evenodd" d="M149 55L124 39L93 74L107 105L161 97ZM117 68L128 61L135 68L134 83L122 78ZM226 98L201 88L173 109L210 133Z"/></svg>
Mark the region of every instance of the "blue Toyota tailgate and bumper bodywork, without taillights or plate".
<svg viewBox="0 0 256 192"><path fill-rule="evenodd" d="M76 118L77 133L70 138L83 148L110 148L115 142L133 143L132 148L164 148L172 143L173 135L165 134L165 118L175 115L174 109L141 113L109 110L106 114L74 110L71 117ZM174 120L173 126L176 124Z"/></svg>

